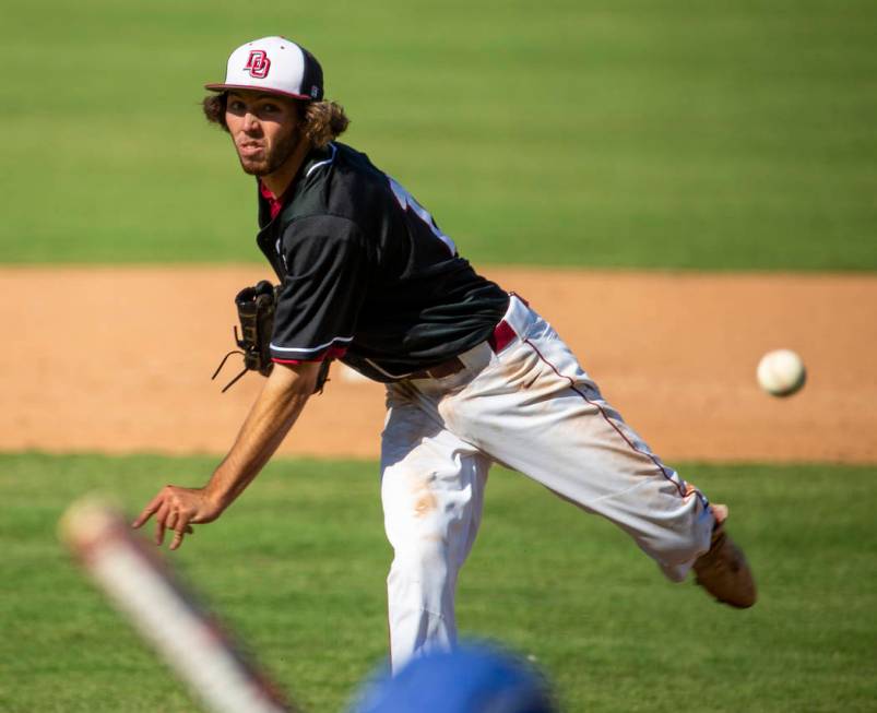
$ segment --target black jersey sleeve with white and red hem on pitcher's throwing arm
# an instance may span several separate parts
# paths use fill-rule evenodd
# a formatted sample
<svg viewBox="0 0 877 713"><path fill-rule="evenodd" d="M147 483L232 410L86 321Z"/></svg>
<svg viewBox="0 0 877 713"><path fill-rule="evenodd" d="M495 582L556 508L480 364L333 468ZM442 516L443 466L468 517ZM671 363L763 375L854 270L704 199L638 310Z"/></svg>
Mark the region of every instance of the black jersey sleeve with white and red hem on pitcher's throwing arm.
<svg viewBox="0 0 877 713"><path fill-rule="evenodd" d="M355 223L335 216L299 218L278 246L286 265L271 338L280 364L344 355L366 292L368 256Z"/></svg>

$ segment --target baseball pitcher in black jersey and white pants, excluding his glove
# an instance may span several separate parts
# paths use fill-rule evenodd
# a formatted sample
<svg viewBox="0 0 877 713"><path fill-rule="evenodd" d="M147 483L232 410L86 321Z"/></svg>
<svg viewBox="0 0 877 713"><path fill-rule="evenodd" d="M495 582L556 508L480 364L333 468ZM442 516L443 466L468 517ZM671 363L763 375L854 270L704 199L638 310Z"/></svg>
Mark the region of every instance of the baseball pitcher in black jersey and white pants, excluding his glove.
<svg viewBox="0 0 877 713"><path fill-rule="evenodd" d="M201 488L167 486L134 521L156 542L218 518L257 476L337 359L387 385L381 499L394 669L457 637L454 590L500 463L607 518L673 581L694 569L716 599L749 607L743 552L710 504L601 395L526 300L478 275L429 212L336 141L315 57L283 37L232 52L208 84L208 119L257 178L257 242L280 280L273 369L227 456Z"/></svg>

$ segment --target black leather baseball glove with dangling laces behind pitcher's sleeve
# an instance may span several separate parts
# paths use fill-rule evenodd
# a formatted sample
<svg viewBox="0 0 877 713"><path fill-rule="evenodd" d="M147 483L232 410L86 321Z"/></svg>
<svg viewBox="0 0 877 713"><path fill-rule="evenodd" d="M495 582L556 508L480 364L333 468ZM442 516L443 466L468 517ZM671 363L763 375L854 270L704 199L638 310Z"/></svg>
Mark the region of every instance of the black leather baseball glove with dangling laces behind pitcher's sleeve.
<svg viewBox="0 0 877 713"><path fill-rule="evenodd" d="M277 306L277 294L280 285L274 286L266 280L262 280L252 287L245 287L235 297L238 320L240 320L240 334L237 326L234 328L235 343L238 348L233 349L223 357L216 371L211 379L215 379L226 360L233 354L240 354L244 357L244 369L232 381L225 384L223 393L228 391L247 371L258 371L263 377L271 373L274 363L271 360L271 334L274 331L274 311ZM313 393L322 393L325 382L329 381L330 359L320 363L320 371L317 375L317 384Z"/></svg>

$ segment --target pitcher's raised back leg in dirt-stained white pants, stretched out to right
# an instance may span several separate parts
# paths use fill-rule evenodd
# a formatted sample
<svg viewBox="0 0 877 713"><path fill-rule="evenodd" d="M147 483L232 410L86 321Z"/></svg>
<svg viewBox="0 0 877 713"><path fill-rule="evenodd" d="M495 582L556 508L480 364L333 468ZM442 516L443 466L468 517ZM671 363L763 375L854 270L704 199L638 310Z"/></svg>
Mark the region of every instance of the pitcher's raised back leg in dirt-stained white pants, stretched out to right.
<svg viewBox="0 0 877 713"><path fill-rule="evenodd" d="M554 330L512 301L507 318L519 337L442 403L446 423L497 462L608 518L668 578L684 579L710 547L707 499L606 403Z"/></svg>

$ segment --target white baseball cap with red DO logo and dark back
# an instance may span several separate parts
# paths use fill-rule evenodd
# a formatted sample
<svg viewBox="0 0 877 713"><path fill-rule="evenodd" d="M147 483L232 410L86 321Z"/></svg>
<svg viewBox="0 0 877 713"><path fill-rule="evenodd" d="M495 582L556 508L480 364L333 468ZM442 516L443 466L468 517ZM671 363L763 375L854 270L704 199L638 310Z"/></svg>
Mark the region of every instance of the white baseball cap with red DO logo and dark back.
<svg viewBox="0 0 877 713"><path fill-rule="evenodd" d="M204 87L213 92L261 90L296 99L320 100L323 70L313 55L292 39L262 37L232 52L225 82Z"/></svg>

